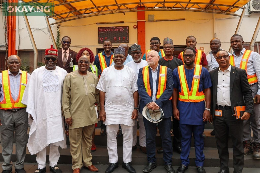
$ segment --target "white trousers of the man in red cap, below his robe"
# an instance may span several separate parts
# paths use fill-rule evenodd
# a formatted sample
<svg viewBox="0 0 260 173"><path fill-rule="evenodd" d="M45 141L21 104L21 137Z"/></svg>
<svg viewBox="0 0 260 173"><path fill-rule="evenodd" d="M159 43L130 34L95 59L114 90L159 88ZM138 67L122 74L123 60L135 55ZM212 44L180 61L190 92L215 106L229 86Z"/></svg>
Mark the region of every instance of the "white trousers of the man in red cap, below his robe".
<svg viewBox="0 0 260 173"><path fill-rule="evenodd" d="M57 165L58 160L60 158L60 152L59 152L59 146L53 145L52 143L49 145L50 151L49 151L49 160L50 160L50 166L54 167ZM38 168L42 169L46 167L46 147L41 150L39 153L37 153L36 161L38 163Z"/></svg>

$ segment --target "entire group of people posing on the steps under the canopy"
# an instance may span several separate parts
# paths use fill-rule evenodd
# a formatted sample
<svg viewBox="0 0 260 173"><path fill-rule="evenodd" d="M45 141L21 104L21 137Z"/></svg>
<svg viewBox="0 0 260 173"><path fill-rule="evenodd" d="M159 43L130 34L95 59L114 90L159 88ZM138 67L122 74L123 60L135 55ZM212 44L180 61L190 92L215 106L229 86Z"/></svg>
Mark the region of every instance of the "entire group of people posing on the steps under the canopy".
<svg viewBox="0 0 260 173"><path fill-rule="evenodd" d="M69 126L73 172L80 173L83 166L92 172L98 171L90 154L91 136L97 122L95 103L100 106L99 118L106 127L106 132L102 128L102 133L107 135L110 163L107 173L119 166L116 143L119 125L123 134L122 167L128 172L136 172L131 161L132 150L136 148L137 119L140 149L147 153L148 160L143 172L151 172L157 166L155 136L159 129L167 173L175 172L173 150L180 153L181 164L177 172L188 169L192 135L197 170L204 173L203 132L207 121L213 121L215 129L220 158L218 173L229 172L229 133L233 142L234 172L242 172L244 155L253 153L253 158L260 159L260 55L245 50L240 35L233 35L230 43L234 50L232 55L221 50L220 40L213 38L210 41L212 51L206 56L196 49L196 38L189 36L187 47L176 58L172 56L174 45L170 38L164 39L161 50L160 39L153 37L151 50L146 50L144 56L137 44L131 46L131 56L127 44L119 45L112 52L112 42L106 39L104 51L94 59L94 65L101 72L99 79L88 71L90 52L76 58L77 53L69 49L71 39L67 36L62 38L62 49L51 47L45 51L46 66L37 68L31 75L20 70L18 56L10 56L6 63L8 70L0 74L2 172L12 172L14 131L15 172L26 172L23 162L29 122L27 147L31 154L37 154L35 172L46 172L49 146L50 171L61 173L57 162L59 146L66 148L63 114ZM78 70L73 71L76 64ZM236 106L245 106L239 119L233 116ZM163 119L158 123L149 121L149 117L143 115L145 108L160 110ZM172 116L173 144L170 134Z"/></svg>

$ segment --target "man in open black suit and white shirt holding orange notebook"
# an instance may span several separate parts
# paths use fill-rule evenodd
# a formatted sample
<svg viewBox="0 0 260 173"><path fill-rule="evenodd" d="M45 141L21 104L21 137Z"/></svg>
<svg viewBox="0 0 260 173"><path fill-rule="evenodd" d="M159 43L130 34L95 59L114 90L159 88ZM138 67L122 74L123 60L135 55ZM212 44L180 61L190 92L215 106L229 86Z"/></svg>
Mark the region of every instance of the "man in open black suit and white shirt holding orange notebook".
<svg viewBox="0 0 260 173"><path fill-rule="evenodd" d="M220 160L220 171L228 173L228 133L233 142L234 173L242 172L244 166L243 121L253 112L252 91L246 71L229 64L229 54L220 50L216 54L219 68L210 72L212 82L212 118ZM243 97L244 96L244 97ZM246 106L241 119L236 119L234 107Z"/></svg>

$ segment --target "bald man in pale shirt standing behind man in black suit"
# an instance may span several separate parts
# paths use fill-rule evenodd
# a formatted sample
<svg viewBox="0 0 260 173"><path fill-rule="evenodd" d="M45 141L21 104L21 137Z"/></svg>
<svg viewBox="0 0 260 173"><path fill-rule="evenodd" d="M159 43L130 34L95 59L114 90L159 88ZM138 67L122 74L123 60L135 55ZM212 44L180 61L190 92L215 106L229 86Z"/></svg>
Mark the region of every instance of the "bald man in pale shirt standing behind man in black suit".
<svg viewBox="0 0 260 173"><path fill-rule="evenodd" d="M221 49L221 43L220 40L218 38L212 38L210 40L210 53L206 56L207 57L207 69L208 71L212 71L215 68L218 68L219 65L216 61L216 54L218 51L222 50ZM228 53L229 55L231 55L230 53Z"/></svg>

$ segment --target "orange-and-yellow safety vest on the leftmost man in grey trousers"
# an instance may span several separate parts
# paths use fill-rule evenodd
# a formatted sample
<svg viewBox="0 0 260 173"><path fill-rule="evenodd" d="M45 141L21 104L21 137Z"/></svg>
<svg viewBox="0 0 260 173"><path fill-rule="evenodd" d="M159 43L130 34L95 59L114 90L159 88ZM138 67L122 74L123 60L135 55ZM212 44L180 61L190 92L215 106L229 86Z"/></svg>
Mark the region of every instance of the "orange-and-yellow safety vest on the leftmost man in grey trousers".
<svg viewBox="0 0 260 173"><path fill-rule="evenodd" d="M26 105L22 103L23 93L27 84L27 72L21 71L20 89L17 100L14 100L11 95L10 79L8 70L2 71L2 87L4 92L4 100L0 102L0 109L25 108Z"/></svg>

